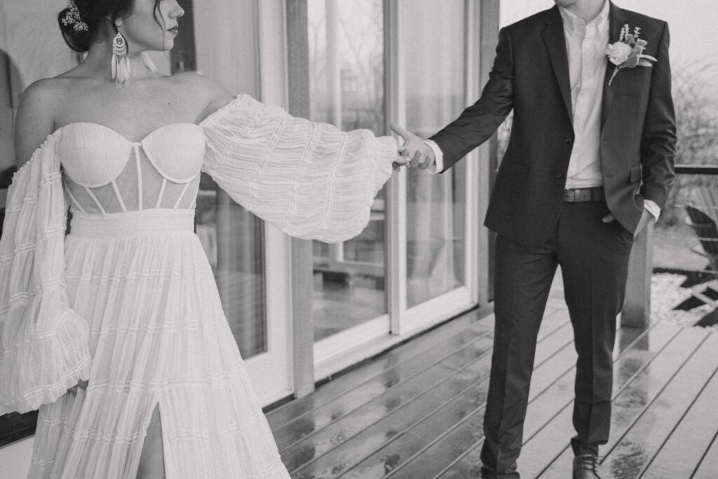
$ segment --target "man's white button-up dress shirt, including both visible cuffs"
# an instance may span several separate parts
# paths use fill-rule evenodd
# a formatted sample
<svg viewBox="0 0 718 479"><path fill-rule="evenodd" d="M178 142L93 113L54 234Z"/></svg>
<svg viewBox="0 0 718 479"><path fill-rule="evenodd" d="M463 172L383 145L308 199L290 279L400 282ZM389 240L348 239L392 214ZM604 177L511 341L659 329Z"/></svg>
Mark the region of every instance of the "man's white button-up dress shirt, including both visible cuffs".
<svg viewBox="0 0 718 479"><path fill-rule="evenodd" d="M564 36L569 60L571 106L574 117L574 145L569 159L567 188L589 188L603 185L601 175L600 137L603 81L607 68L609 1L588 24L559 6L564 22ZM436 155L436 166L429 172L444 169L444 154L432 140L424 140ZM661 208L645 200L647 209L658 219Z"/></svg>

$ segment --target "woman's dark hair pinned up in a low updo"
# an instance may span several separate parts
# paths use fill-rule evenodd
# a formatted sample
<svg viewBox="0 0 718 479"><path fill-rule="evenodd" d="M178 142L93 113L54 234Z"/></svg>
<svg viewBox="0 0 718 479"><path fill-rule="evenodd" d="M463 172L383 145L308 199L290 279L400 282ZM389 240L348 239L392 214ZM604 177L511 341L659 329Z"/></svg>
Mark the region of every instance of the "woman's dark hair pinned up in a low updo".
<svg viewBox="0 0 718 479"><path fill-rule="evenodd" d="M157 18L160 1L154 0L154 16L157 19L157 24L161 26L162 24ZM134 2L135 0L75 0L75 5L78 6L80 13L80 21L85 22L88 28L76 30L74 23L64 24L62 19L65 19L69 13L70 7L62 9L57 14L57 22L60 24L60 32L65 38L65 43L75 52L87 52L90 50L90 45L97 39L102 19L108 18L114 24L115 19L129 15Z"/></svg>

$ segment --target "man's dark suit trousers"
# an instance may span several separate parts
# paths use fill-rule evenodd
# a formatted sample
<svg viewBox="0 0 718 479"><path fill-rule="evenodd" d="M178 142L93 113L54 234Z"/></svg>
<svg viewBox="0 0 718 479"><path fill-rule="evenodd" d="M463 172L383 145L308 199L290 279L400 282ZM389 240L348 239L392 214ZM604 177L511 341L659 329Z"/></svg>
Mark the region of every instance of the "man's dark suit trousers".
<svg viewBox="0 0 718 479"><path fill-rule="evenodd" d="M597 454L608 440L616 316L623 306L633 233L603 223L604 201L564 203L551 236L523 246L505 236L495 245L495 336L484 417L483 478L518 478L536 338L556 267L578 353L571 445Z"/></svg>

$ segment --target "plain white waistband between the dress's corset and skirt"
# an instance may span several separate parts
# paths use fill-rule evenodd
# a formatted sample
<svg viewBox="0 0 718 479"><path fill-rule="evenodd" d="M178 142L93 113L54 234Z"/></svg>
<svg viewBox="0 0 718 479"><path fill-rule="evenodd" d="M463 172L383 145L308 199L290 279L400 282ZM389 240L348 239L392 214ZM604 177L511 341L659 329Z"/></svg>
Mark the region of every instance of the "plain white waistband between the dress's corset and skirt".
<svg viewBox="0 0 718 479"><path fill-rule="evenodd" d="M195 232L195 210L168 208L108 213L106 215L73 213L70 234L73 236L137 236Z"/></svg>

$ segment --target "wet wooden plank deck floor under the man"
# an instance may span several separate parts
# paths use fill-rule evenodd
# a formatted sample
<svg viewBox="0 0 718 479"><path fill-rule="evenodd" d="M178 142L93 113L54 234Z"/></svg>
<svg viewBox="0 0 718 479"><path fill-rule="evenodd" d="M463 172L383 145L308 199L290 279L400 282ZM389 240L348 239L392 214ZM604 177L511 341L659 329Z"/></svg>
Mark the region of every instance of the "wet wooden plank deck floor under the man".
<svg viewBox="0 0 718 479"><path fill-rule="evenodd" d="M483 316L483 317L482 317ZM718 333L622 328L604 478L718 478ZM269 412L292 478L478 478L493 315L470 312ZM522 478L569 478L574 361L560 289L539 333Z"/></svg>

